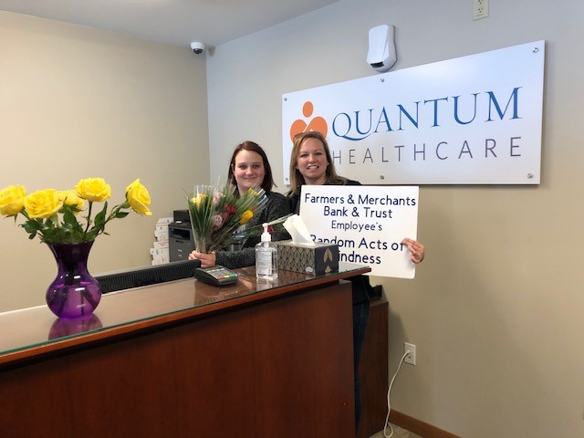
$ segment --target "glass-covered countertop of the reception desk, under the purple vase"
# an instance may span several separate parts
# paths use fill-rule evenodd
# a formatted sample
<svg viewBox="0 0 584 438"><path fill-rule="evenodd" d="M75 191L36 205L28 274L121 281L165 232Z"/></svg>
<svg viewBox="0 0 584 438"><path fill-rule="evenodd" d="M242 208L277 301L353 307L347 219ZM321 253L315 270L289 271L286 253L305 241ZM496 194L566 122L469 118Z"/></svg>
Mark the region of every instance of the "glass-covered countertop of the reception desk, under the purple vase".
<svg viewBox="0 0 584 438"><path fill-rule="evenodd" d="M308 276L280 270L274 281L255 278L255 267L235 269L238 281L227 287L214 287L194 278L104 294L98 308L86 318L57 318L47 305L0 313L0 364L13 360L18 351L59 349L82 337L107 338L115 328L135 331L183 318L194 318L249 302L268 299L297 290L326 284L370 271L368 266L339 263L339 272ZM103 335L103 336L100 336ZM42 352L42 351L39 351ZM17 359L21 359L20 356Z"/></svg>

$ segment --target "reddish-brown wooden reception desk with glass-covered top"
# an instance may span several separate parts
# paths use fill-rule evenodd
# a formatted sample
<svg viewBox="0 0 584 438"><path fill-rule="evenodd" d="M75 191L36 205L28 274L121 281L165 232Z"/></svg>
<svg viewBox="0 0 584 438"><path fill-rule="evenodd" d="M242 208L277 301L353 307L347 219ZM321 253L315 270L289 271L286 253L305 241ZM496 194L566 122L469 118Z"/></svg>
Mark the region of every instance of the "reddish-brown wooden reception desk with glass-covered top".
<svg viewBox="0 0 584 438"><path fill-rule="evenodd" d="M351 285L255 268L104 295L94 315L0 314L10 437L352 437Z"/></svg>

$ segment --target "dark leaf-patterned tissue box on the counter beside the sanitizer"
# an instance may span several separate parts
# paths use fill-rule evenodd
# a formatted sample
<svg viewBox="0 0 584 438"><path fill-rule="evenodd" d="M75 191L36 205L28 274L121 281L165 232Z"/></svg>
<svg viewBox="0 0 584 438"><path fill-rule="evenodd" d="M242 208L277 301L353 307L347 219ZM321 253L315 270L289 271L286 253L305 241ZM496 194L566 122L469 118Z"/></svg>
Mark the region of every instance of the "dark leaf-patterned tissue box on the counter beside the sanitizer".
<svg viewBox="0 0 584 438"><path fill-rule="evenodd" d="M339 245L317 243L314 246L293 244L291 240L277 245L277 267L287 271L319 276L339 271Z"/></svg>

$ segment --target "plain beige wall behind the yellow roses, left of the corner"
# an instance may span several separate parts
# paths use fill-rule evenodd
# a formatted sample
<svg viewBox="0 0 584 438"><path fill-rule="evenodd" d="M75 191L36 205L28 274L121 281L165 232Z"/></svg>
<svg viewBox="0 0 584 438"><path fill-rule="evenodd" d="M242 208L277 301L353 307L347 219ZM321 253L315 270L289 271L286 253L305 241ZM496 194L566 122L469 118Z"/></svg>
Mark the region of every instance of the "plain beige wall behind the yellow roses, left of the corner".
<svg viewBox="0 0 584 438"><path fill-rule="evenodd" d="M140 177L152 216L111 223L89 272L149 265L157 219L209 181L205 70L187 47L0 12L0 186L63 190L100 176L120 203ZM11 219L0 241L0 311L44 304L56 274L47 247Z"/></svg>

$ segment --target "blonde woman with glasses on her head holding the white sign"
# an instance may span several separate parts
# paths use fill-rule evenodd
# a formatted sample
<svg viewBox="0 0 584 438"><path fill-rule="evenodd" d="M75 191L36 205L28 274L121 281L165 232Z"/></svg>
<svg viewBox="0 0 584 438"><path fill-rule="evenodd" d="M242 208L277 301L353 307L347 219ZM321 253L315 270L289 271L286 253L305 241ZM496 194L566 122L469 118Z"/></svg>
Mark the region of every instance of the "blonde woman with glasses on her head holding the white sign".
<svg viewBox="0 0 584 438"><path fill-rule="evenodd" d="M294 137L294 147L290 157L290 198L291 211L299 214L300 188L303 185L360 185L337 174L328 149L327 139L317 131L301 132ZM412 253L412 262L420 263L424 257L424 247L420 242L405 238L401 241ZM371 286L369 276L351 278L353 283L353 360L355 371L355 427L360 422L360 381L359 360L369 319Z"/></svg>

